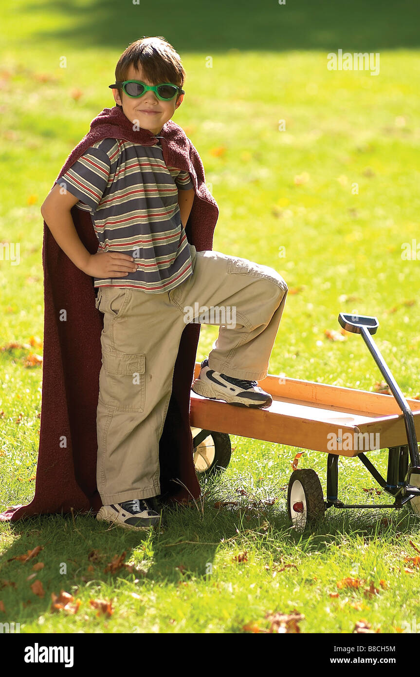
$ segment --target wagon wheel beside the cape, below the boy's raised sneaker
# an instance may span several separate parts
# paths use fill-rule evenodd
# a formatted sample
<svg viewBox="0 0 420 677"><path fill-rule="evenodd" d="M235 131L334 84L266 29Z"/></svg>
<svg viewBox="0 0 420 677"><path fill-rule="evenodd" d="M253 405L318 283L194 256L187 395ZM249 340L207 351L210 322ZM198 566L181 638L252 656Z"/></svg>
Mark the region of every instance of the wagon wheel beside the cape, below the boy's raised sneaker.
<svg viewBox="0 0 420 677"><path fill-rule="evenodd" d="M191 427L193 458L198 477L208 477L225 470L231 460L231 439L227 433L215 433Z"/></svg>

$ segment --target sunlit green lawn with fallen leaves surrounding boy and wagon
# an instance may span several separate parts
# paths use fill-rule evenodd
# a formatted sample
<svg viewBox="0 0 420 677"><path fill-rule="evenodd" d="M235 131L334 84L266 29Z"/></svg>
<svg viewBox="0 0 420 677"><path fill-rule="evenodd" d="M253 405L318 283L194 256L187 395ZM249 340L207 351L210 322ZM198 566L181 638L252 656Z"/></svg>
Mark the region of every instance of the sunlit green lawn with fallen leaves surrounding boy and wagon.
<svg viewBox="0 0 420 677"><path fill-rule="evenodd" d="M0 261L0 345L42 339L41 203L91 119L113 105L108 85L122 50L141 35L164 35L187 71L174 121L199 150L220 209L213 248L271 265L298 290L287 298L270 373L373 390L381 376L361 337L331 343L324 333L339 329L340 311L354 310L377 315L375 341L413 397L420 392L419 261L404 261L401 247L420 241L420 53L413 32L419 9L352 3L354 12L335 16L334 3L317 5L317 12L311 3L300 9L263 3L259 13L247 2L235 14L236 30L230 10L220 20L224 6L212 3L209 18L208 9L200 14L186 3L174 16L172 4L161 2L142 7L141 22L131 14L134 5L115 14L115 4L91 0L71 9L34 0L5 8L0 241L20 243L20 264ZM379 24L367 21L368 11ZM185 37L188 20L202 26L200 39ZM379 76L329 72L327 52L340 46L380 49ZM62 56L67 68L59 66ZM77 100L74 89L81 92ZM306 182L297 184L302 175ZM202 326L197 359L216 336L217 328ZM24 367L28 352L0 352L0 510L34 494L42 373ZM374 630L396 632L419 617L420 573L404 571L404 557L416 554L409 541L420 545L420 525L408 508L331 508L312 532L298 534L285 512L297 450L235 436L232 444L229 468L218 481L203 481L201 502L164 510L151 533L107 530L81 515L0 523L0 586L16 584L0 589L0 622L20 622L21 632L243 632L252 622L267 628L266 613L297 609L305 616L302 632L347 633L360 618ZM386 450L369 458L386 473ZM326 460L309 451L299 463L319 473L324 492ZM367 498L363 488L375 483L357 459L340 459L339 466L344 502L388 502L384 494ZM241 502L214 508L229 498ZM258 509L249 506L255 500ZM43 598L26 580L33 562L9 561L37 545ZM92 550L99 551L97 561L88 559ZM234 561L244 550L248 561ZM105 573L123 551L137 571ZM286 564L296 567L275 571ZM349 576L366 583L331 598ZM371 581L379 588L373 598L363 594ZM60 589L81 600L76 615L51 613L51 592ZM113 615L96 617L93 598L112 600Z"/></svg>

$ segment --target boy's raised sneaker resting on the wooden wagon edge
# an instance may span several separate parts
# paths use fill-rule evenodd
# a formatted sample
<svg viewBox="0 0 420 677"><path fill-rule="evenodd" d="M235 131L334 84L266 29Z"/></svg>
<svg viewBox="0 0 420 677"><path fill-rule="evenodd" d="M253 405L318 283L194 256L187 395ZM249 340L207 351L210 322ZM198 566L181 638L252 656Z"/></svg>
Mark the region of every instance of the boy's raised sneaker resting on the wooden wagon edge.
<svg viewBox="0 0 420 677"><path fill-rule="evenodd" d="M208 357L201 364L200 375L195 378L191 390L209 399L224 399L228 404L254 409L266 409L273 402L255 380L233 378L215 372L208 366Z"/></svg>

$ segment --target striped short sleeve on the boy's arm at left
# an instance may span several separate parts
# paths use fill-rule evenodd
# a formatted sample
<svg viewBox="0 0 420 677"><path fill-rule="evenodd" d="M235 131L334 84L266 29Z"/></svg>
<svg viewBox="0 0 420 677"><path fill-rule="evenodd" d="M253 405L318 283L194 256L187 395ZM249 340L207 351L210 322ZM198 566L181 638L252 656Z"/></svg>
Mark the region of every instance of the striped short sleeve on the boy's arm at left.
<svg viewBox="0 0 420 677"><path fill-rule="evenodd" d="M55 183L64 186L95 211L106 190L110 172L111 162L106 152L92 146Z"/></svg>

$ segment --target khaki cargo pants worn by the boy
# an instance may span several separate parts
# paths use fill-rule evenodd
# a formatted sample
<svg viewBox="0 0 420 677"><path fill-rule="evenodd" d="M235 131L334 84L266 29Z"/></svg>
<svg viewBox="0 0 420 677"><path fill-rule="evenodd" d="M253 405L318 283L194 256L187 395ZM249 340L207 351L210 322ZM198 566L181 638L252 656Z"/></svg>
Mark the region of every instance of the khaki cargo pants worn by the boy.
<svg viewBox="0 0 420 677"><path fill-rule="evenodd" d="M160 494L159 440L186 322L220 326L210 369L248 380L267 375L285 281L266 265L189 247L193 274L169 292L98 289L96 307L104 318L97 488L103 505Z"/></svg>

